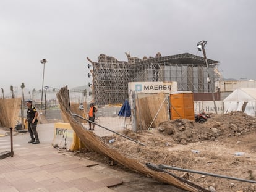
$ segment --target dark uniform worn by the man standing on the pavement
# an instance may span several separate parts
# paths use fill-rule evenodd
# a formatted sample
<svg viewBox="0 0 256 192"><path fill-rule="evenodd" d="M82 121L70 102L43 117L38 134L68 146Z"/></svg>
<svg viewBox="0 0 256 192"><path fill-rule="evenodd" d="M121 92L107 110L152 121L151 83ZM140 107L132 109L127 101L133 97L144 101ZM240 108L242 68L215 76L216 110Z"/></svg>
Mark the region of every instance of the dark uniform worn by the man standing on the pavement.
<svg viewBox="0 0 256 192"><path fill-rule="evenodd" d="M36 125L37 125L38 120L36 119L35 122L32 123L32 121L35 117L35 114L36 114L36 108L34 106L31 106L30 108L28 108L27 120L28 120L28 132L29 132L30 138L31 138L30 143L32 143L32 141L35 141L35 140L38 141L38 143L39 143L38 133L36 131Z"/></svg>

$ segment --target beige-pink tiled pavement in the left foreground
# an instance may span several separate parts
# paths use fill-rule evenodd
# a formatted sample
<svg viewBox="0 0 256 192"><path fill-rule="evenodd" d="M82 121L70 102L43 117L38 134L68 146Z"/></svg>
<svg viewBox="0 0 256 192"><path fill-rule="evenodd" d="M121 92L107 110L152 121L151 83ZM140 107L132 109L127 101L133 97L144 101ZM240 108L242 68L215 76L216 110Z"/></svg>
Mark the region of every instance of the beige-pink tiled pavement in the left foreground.
<svg viewBox="0 0 256 192"><path fill-rule="evenodd" d="M121 178L93 168L95 165L97 162L69 156L44 141L27 144L14 150L13 157L0 159L0 191L108 192L113 191L108 186L122 183Z"/></svg>

